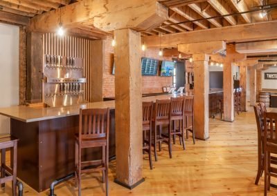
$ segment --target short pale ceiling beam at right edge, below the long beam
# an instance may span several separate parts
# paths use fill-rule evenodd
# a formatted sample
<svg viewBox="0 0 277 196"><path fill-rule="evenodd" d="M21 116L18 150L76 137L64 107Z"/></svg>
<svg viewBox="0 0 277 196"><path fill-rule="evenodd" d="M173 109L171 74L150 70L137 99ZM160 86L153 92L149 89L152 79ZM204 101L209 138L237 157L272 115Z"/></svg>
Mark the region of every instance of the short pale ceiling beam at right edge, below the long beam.
<svg viewBox="0 0 277 196"><path fill-rule="evenodd" d="M244 54L277 52L277 40L237 43L235 50Z"/></svg>

